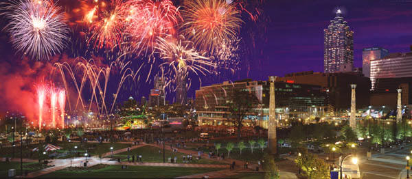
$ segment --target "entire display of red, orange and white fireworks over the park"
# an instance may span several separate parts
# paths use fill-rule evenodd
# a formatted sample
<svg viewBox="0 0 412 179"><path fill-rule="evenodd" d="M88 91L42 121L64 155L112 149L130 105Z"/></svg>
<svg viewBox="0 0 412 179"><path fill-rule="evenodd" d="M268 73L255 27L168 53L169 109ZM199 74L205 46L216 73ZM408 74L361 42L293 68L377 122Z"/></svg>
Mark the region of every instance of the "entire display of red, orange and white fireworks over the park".
<svg viewBox="0 0 412 179"><path fill-rule="evenodd" d="M172 92L179 79L189 88L196 77L234 74L242 24L258 20L263 1L9 0L0 15L17 52L52 64L38 78L64 86L36 87L38 128L65 128L73 111L109 115L119 92L136 91L141 79L161 76Z"/></svg>

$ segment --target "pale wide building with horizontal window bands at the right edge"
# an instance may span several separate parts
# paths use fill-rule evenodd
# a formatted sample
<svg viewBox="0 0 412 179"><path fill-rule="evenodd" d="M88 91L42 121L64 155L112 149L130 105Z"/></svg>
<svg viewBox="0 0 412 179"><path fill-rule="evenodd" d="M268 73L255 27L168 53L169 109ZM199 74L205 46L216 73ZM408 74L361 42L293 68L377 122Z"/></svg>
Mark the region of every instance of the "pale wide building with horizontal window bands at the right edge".
<svg viewBox="0 0 412 179"><path fill-rule="evenodd" d="M371 60L371 90L377 79L412 77L412 52L391 53L381 59Z"/></svg>

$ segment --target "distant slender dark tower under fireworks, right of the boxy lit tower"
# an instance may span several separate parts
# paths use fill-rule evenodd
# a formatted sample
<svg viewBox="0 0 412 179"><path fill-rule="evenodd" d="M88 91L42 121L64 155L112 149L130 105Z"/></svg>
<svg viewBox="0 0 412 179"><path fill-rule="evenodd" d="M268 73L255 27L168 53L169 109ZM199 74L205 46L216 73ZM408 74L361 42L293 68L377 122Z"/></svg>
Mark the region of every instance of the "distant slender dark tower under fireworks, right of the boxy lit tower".
<svg viewBox="0 0 412 179"><path fill-rule="evenodd" d="M186 104L187 89L186 89L187 74L185 68L180 68L176 72L176 100L174 102L181 105Z"/></svg>

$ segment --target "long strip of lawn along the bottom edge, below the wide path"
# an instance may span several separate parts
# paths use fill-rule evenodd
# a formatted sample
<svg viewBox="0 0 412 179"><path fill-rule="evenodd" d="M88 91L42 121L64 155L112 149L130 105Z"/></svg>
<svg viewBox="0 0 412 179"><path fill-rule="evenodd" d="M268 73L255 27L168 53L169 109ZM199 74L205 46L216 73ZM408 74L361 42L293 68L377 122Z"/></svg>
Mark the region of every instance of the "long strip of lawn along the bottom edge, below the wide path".
<svg viewBox="0 0 412 179"><path fill-rule="evenodd" d="M99 169L61 169L41 176L41 178L174 178L217 170L220 169L148 166L128 166L128 169L122 169L122 165L104 165Z"/></svg>

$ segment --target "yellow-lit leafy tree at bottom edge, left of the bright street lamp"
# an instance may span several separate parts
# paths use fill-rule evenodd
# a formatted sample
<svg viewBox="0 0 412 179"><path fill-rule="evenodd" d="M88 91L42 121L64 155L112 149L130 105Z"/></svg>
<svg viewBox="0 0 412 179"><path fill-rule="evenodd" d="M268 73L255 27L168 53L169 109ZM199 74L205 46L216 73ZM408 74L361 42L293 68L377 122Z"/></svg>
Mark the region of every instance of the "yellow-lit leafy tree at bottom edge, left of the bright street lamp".
<svg viewBox="0 0 412 179"><path fill-rule="evenodd" d="M328 164L314 154L308 153L306 148L299 148L300 155L295 159L297 167L304 171L303 175L309 179L330 178Z"/></svg>

